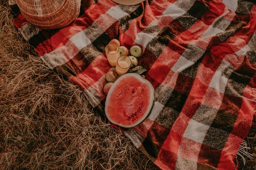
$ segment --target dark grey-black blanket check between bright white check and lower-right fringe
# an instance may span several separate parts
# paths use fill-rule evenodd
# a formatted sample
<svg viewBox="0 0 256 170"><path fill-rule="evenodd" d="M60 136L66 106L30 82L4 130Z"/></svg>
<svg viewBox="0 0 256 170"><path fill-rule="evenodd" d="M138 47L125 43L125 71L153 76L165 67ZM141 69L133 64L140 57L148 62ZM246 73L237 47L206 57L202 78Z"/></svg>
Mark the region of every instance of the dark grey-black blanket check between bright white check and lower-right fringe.
<svg viewBox="0 0 256 170"><path fill-rule="evenodd" d="M226 141L229 137L229 133L221 128L213 128L210 126L208 132L204 138L203 144L217 149L222 150L226 144Z"/></svg>

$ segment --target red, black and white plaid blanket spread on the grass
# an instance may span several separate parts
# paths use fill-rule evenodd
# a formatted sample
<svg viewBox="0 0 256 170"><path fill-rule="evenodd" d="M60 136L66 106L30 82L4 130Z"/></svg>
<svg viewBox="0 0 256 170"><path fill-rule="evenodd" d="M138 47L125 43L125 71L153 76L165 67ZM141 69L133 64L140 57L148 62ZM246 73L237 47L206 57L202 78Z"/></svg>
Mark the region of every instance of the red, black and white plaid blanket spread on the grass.
<svg viewBox="0 0 256 170"><path fill-rule="evenodd" d="M253 0L146 0L125 6L83 1L69 26L14 23L44 63L104 106L105 46L139 44L139 65L155 89L149 118L124 129L163 170L237 169L234 157L255 114L256 4Z"/></svg>

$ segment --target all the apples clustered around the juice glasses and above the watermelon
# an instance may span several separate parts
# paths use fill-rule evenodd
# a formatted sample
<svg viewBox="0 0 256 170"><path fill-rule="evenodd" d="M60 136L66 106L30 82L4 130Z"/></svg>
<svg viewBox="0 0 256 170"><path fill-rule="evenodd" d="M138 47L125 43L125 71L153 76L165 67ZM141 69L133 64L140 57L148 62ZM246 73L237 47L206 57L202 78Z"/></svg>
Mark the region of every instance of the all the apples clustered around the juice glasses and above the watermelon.
<svg viewBox="0 0 256 170"><path fill-rule="evenodd" d="M131 68L134 68L138 65L138 57L142 55L142 49L138 45L133 45L129 48L121 46L121 43L118 39L112 39L109 41L109 44L117 44L120 51L120 56L128 56L131 60ZM110 87L118 79L119 75L116 73L115 68L110 68L105 74L107 84L104 85L103 92L107 95Z"/></svg>

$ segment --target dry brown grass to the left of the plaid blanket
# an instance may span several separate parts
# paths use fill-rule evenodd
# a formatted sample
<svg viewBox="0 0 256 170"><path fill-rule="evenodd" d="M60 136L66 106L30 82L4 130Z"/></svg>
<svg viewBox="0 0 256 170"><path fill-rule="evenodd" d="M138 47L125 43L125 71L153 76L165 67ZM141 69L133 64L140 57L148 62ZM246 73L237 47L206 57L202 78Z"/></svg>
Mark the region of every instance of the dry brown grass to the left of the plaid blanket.
<svg viewBox="0 0 256 170"><path fill-rule="evenodd" d="M47 68L0 1L0 169L154 170L95 114L83 91Z"/></svg>

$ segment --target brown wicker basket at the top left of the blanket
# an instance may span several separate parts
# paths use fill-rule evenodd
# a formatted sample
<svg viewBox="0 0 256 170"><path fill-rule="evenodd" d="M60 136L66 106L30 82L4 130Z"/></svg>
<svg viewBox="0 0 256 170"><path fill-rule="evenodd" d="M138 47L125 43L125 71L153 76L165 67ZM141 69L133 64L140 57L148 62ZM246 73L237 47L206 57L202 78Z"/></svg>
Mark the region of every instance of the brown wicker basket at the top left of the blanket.
<svg viewBox="0 0 256 170"><path fill-rule="evenodd" d="M42 29L67 26L80 12L81 0L16 0L23 17Z"/></svg>

